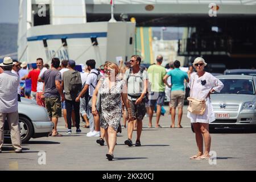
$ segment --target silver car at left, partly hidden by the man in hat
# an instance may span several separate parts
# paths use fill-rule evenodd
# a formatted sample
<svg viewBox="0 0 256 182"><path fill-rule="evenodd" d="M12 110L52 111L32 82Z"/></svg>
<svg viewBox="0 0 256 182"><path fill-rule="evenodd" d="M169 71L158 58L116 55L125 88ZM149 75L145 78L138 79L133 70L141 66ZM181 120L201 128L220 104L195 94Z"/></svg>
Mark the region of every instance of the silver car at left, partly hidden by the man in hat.
<svg viewBox="0 0 256 182"><path fill-rule="evenodd" d="M19 126L22 143L30 138L48 137L53 123L49 120L46 108L36 105L36 102L22 97L18 104ZM5 142L10 143L9 125L5 123Z"/></svg>

